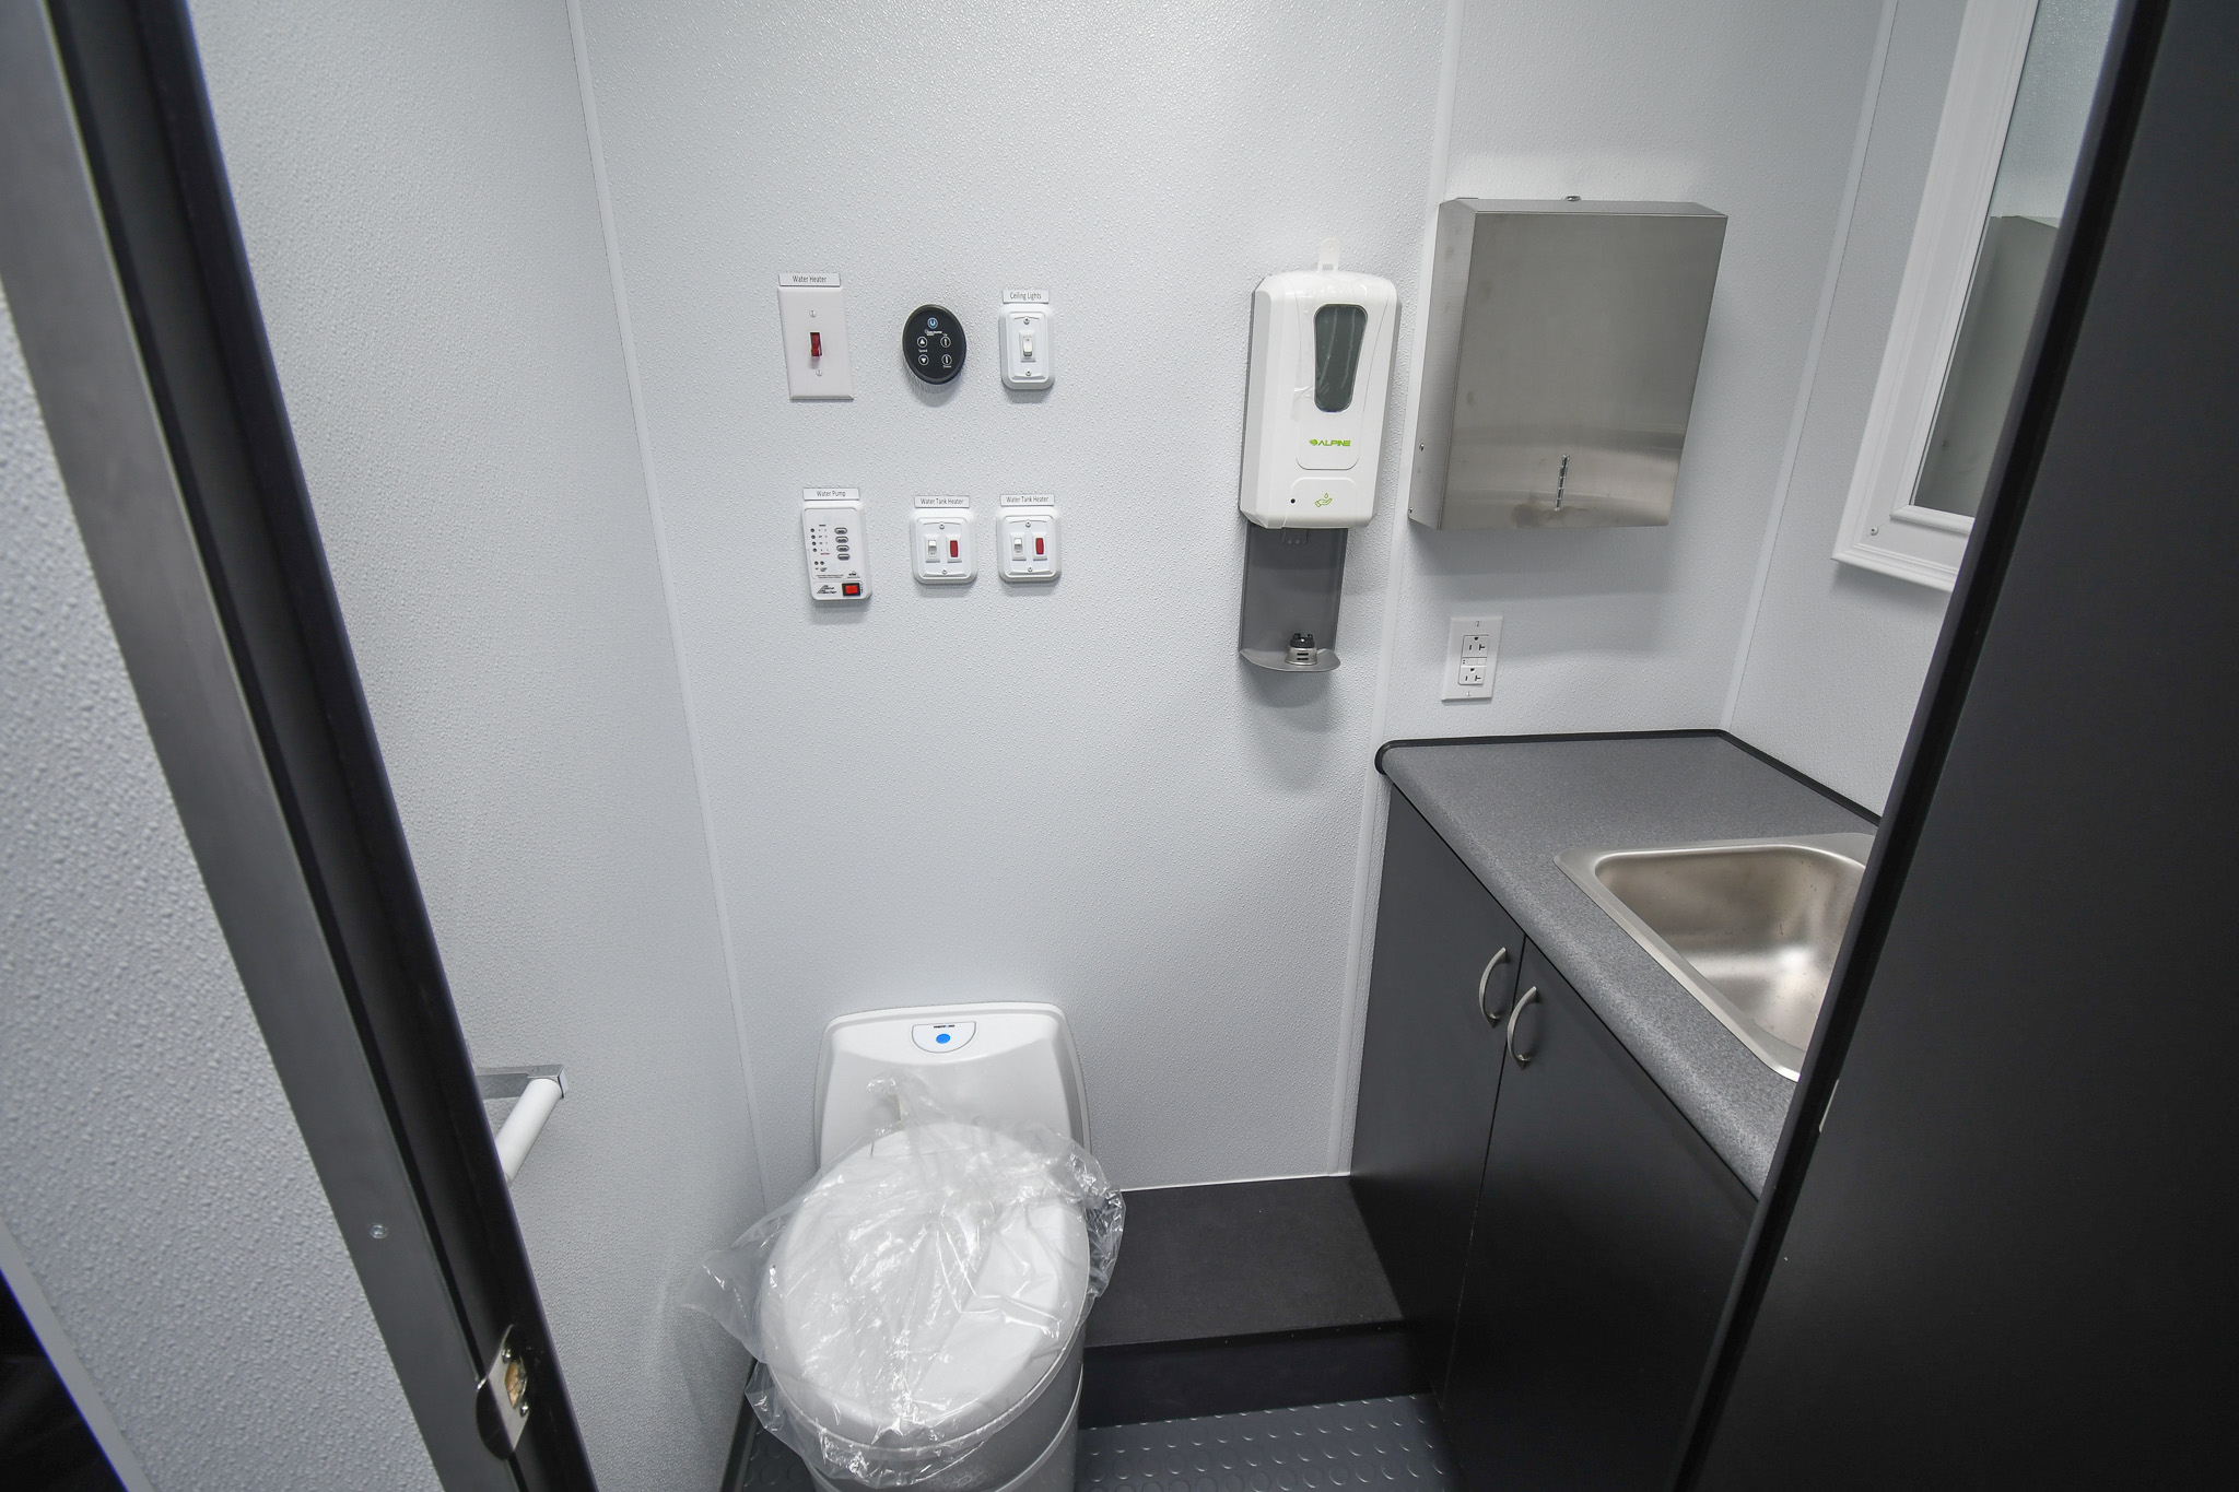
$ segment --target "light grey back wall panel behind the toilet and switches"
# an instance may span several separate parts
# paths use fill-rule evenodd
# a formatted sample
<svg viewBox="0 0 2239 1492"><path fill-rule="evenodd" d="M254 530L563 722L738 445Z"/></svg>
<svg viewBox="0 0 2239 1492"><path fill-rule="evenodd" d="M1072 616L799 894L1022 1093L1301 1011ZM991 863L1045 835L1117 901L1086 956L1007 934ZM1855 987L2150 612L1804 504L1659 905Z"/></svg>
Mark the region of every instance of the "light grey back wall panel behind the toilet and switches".
<svg viewBox="0 0 2239 1492"><path fill-rule="evenodd" d="M1402 519L1388 463L1343 669L1236 658L1249 293L1334 235L1413 304L1444 7L584 20L772 1192L811 1170L824 1022L922 1000L1064 1004L1124 1186L1341 1165ZM781 271L846 277L853 403L786 400ZM1052 298L1046 396L987 347L1017 284ZM987 333L949 391L900 367L920 302ZM862 608L811 608L811 483L864 494ZM1055 492L1064 579L916 586L916 492L969 492L983 532L1001 492Z"/></svg>

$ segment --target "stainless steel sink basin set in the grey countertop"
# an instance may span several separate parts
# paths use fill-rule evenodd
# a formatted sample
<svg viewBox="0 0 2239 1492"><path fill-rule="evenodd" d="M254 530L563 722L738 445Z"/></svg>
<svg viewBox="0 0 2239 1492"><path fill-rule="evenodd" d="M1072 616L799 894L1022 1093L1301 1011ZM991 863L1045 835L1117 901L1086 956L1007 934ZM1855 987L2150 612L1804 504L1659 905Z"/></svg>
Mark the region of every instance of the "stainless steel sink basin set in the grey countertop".
<svg viewBox="0 0 2239 1492"><path fill-rule="evenodd" d="M1872 848L1872 834L1791 834L1554 859L1744 1047L1793 1080Z"/></svg>

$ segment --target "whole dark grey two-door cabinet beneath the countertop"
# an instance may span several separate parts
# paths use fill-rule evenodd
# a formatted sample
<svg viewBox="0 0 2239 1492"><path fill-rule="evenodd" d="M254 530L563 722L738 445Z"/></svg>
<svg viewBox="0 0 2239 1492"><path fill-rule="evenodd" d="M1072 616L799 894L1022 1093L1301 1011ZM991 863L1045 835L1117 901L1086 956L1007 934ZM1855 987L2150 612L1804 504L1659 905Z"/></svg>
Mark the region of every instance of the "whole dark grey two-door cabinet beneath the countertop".
<svg viewBox="0 0 2239 1492"><path fill-rule="evenodd" d="M1664 1488L1755 1199L1399 792L1352 1170L1471 1492Z"/></svg>

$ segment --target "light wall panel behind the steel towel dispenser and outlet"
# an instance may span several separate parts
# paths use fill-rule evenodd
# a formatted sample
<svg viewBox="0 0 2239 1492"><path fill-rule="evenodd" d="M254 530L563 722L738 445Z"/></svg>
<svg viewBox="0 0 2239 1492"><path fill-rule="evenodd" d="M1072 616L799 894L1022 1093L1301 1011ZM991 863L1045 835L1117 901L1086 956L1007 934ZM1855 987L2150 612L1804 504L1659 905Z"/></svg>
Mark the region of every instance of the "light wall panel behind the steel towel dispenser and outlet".
<svg viewBox="0 0 2239 1492"><path fill-rule="evenodd" d="M1386 736L1722 723L1879 25L1881 0L1469 2L1446 197L1699 201L1726 246L1670 526L1408 523ZM1440 702L1446 617L1480 608L1493 698Z"/></svg>

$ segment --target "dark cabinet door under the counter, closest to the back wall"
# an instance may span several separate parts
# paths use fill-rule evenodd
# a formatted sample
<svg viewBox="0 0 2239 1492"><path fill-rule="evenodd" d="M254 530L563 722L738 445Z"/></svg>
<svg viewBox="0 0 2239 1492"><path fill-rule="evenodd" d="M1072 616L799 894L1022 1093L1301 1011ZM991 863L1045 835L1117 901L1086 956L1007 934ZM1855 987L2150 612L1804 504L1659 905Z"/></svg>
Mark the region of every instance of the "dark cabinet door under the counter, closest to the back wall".
<svg viewBox="0 0 2239 1492"><path fill-rule="evenodd" d="M1500 1085L1500 1018L1525 944L1399 792L1390 794L1375 948L1352 1190L1424 1380L1442 1387Z"/></svg>

